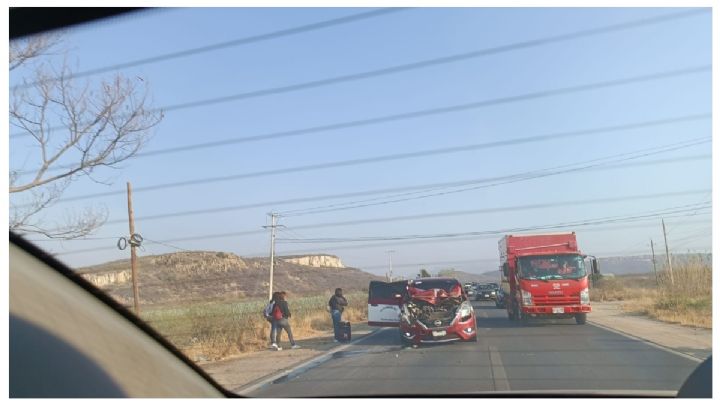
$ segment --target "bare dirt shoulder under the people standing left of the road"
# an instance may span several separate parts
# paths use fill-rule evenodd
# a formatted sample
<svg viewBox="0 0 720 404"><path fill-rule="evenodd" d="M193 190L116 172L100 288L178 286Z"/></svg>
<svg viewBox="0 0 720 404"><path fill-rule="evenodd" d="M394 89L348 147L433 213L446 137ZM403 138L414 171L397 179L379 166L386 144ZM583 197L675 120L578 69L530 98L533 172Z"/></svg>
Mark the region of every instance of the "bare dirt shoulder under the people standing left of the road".
<svg viewBox="0 0 720 404"><path fill-rule="evenodd" d="M352 324L352 339L360 339L376 327L367 323ZM298 340L300 349L290 349L287 336L283 335L280 346L282 351L270 349L248 352L216 362L199 363L215 381L231 391L241 390L244 386L258 382L271 375L279 375L283 371L308 362L332 349L347 346L333 342L332 330L317 337Z"/></svg>

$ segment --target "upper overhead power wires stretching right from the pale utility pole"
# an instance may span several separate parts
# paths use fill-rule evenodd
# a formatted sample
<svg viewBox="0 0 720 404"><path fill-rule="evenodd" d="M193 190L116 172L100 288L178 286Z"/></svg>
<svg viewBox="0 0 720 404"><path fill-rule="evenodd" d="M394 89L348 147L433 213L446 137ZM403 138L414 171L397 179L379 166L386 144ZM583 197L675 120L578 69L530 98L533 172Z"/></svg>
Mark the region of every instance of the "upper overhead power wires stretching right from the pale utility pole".
<svg viewBox="0 0 720 404"><path fill-rule="evenodd" d="M706 139L706 140L699 140L699 139ZM424 195L416 195L416 194L426 193L429 191L407 192L404 194L390 195L390 196L386 196L386 197L366 199L366 200L362 200L362 201L351 201L351 202L343 202L343 203L337 203L337 204L332 204L332 205L318 206L318 207L314 207L314 208L296 209L296 210L292 210L292 211L281 212L280 214L282 216L286 216L286 217L302 216L302 215L309 215L309 214L334 212L334 211L339 211L339 210L357 209L357 208L363 208L363 207L368 207L368 206L386 205L386 204L390 204L390 203L405 202L405 201L410 201L410 200L417 200L417 199L424 199L424 198L430 198L430 197L435 197L435 196L467 192L467 191L472 191L472 190L476 190L476 189L480 189L480 188L489 188L489 187L494 187L494 186L498 186L498 185L505 185L505 184L515 183L515 182L520 182L520 181L527 181L527 180L535 179L535 178L560 175L560 174L565 174L565 173L575 172L575 171L583 171L586 169L596 168L596 167L605 166L605 165L613 163L613 161L604 161L603 162L602 160L608 160L608 159L613 159L613 158L616 159L614 162L635 160L638 158L643 158L643 157L647 157L647 156L654 155L654 154L666 153L669 151L675 151L675 150L679 150L679 149L686 148L686 147L696 146L696 145L699 145L702 143L707 143L709 141L710 141L710 139L708 139L708 138L698 138L697 140L693 140L693 141L685 141L685 142L680 142L680 143L676 143L676 144L660 146L660 147L655 147L655 148L651 148L651 149L645 149L645 150L653 150L653 151L648 151L646 153L642 153L642 151L635 151L635 152L630 152L630 153L623 153L620 155L614 155L614 156L608 156L608 157L602 157L599 159L589 160L588 162L598 162L598 163L585 164L584 166L580 166L580 167L577 167L577 166L580 164L583 164L583 163L572 163L572 164L566 164L566 165L562 165L562 166L556 166L556 167L551 167L551 168L546 168L546 169L541 169L541 170L527 171L524 173L513 174L513 175L509 175L509 176L487 178L487 179L479 180L476 183L490 182L490 184L477 185L477 186L472 186L469 188L462 188L462 189L457 189L457 190L452 190L452 191L442 191L442 192L435 192L435 193L424 194ZM638 153L642 153L642 154L638 154ZM635 154L635 155L632 155L632 154ZM623 156L628 156L628 157L623 157ZM622 157L622 158L620 158L620 157ZM565 167L570 167L570 168L565 168ZM500 182L496 182L496 181L500 181ZM453 187L456 187L456 186L448 186L448 187L442 187L442 188L438 188L438 189L453 188ZM408 195L416 195L416 196L408 196ZM407 197L405 197L405 196L407 196ZM399 198L399 197L403 197L403 198ZM396 199L374 202L379 199L387 199L387 198L396 198Z"/></svg>

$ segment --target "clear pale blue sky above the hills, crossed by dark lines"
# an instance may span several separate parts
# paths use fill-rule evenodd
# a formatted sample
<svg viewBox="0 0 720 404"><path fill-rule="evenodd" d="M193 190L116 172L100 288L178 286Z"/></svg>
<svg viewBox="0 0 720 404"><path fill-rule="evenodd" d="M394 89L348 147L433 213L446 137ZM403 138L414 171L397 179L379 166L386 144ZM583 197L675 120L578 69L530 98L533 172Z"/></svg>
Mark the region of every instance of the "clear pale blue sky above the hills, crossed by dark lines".
<svg viewBox="0 0 720 404"><path fill-rule="evenodd" d="M365 9L166 9L128 16L65 34L58 48L84 71L201 47ZM312 32L120 70L149 83L153 104L168 106L249 91L360 73L595 27L666 15L681 9L411 9ZM542 92L711 64L710 13L527 49L436 65L380 77L211 106L167 112L145 150L247 137L362 120L385 115ZM59 60L61 56L50 56ZM21 75L14 71L11 85ZM110 74L91 76L96 81ZM106 186L88 179L65 196L123 191L156 184L292 168L446 147L511 140L563 131L662 120L711 111L711 74L704 71L659 80L578 91L484 108L397 120L222 148L199 149L130 160L119 170L98 171ZM14 132L13 132L14 133ZM711 120L695 119L632 130L596 133L421 158L174 187L134 195L137 232L189 250L268 251L268 234L203 238L263 230L270 211L312 208L377 197L355 197L261 207L160 220L143 216L257 202L341 194L381 188L498 177L711 136ZM11 167L32 161L27 140L11 140ZM580 171L468 192L322 214L282 217L279 238L353 238L407 234L464 233L531 227L605 216L635 215L710 200L710 143L649 156L634 162L693 157L681 162ZM700 157L698 157L700 156ZM599 198L675 193L646 199L594 204L567 203ZM486 214L373 222L302 229L303 226L439 212L530 204L557 204ZM127 233L124 195L61 202L49 220L67 209L106 206L111 223L93 237ZM667 220L678 252L709 250L708 210ZM115 223L113 223L115 222ZM629 226L630 224L628 224ZM660 219L578 227L581 248L590 254L649 252L661 240ZM572 229L570 229L572 230ZM31 237L40 239L37 236ZM419 244L278 244L278 253L327 252L353 266L384 273L388 249L396 273L453 266L481 273L497 265L498 237ZM106 249L115 241L39 242L72 266L126 258ZM671 244L672 246L672 244ZM176 251L146 243L142 255ZM77 250L96 249L83 253ZM467 261L467 262L460 262Z"/></svg>

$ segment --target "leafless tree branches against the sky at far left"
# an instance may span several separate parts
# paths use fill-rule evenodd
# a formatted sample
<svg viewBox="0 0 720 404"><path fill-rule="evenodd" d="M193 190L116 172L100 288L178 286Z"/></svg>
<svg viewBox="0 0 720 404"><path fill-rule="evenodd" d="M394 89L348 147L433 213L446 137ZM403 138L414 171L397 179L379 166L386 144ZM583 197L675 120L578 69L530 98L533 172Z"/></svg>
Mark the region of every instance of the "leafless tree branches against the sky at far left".
<svg viewBox="0 0 720 404"><path fill-rule="evenodd" d="M147 85L139 77L81 83L66 59L59 68L38 60L55 43L35 37L10 48L10 70L22 66L27 72L10 93L10 125L20 130L14 141L27 142L32 167L10 169L10 228L71 239L97 229L107 213L85 207L66 214L63 223L48 223L43 212L74 180L102 182L93 176L97 168L117 168L133 157L163 114L148 107Z"/></svg>

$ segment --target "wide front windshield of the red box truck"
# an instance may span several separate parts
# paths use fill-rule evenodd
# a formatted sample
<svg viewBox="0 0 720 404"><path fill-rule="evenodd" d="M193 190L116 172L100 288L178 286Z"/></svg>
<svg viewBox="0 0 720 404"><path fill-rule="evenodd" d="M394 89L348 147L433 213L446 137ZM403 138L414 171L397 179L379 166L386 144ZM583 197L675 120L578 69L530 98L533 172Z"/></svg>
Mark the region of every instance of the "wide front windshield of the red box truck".
<svg viewBox="0 0 720 404"><path fill-rule="evenodd" d="M586 275L579 255L543 255L518 259L523 279L580 279Z"/></svg>

